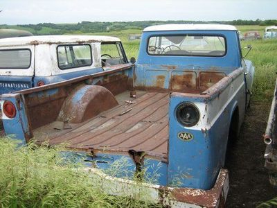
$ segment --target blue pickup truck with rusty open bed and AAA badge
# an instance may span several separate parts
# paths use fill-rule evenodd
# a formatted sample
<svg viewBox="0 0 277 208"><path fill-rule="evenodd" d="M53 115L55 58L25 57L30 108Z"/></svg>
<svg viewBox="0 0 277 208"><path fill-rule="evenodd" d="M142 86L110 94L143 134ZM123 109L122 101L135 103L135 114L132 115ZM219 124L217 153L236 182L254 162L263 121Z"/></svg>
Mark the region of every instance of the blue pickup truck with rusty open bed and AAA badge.
<svg viewBox="0 0 277 208"><path fill-rule="evenodd" d="M3 126L22 144L68 144L88 155L93 173L117 159L132 164L129 178L159 173L143 189L163 205L222 207L227 144L240 131L253 73L234 26L150 26L135 64L1 95ZM131 193L125 171L116 176L107 175L108 187Z"/></svg>

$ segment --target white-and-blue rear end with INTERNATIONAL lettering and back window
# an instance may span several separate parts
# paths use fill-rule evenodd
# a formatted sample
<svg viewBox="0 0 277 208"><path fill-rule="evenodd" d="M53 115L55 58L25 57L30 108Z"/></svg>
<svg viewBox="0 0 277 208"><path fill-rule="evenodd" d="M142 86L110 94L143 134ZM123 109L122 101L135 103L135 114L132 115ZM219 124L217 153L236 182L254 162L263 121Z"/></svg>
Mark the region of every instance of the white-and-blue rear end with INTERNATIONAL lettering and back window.
<svg viewBox="0 0 277 208"><path fill-rule="evenodd" d="M33 87L35 46L0 49L0 94Z"/></svg>

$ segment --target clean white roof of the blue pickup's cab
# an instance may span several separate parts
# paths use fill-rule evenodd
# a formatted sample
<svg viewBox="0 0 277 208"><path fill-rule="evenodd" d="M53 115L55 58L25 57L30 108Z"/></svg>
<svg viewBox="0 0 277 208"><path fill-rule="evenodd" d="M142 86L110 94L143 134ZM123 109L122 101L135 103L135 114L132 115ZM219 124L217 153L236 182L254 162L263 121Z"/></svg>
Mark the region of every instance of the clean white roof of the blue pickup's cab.
<svg viewBox="0 0 277 208"><path fill-rule="evenodd" d="M161 24L143 30L143 32L149 31L238 31L238 29L227 24Z"/></svg>

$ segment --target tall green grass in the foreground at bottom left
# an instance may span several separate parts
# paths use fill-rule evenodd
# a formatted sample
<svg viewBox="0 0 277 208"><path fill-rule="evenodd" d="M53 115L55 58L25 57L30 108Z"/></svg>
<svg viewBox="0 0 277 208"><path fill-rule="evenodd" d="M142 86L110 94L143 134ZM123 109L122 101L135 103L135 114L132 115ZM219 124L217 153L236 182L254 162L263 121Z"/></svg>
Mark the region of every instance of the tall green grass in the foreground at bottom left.
<svg viewBox="0 0 277 208"><path fill-rule="evenodd" d="M62 146L17 148L0 139L0 207L160 207L140 191L133 198L111 196L102 178L84 170L84 164L64 158Z"/></svg>

